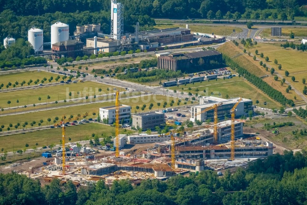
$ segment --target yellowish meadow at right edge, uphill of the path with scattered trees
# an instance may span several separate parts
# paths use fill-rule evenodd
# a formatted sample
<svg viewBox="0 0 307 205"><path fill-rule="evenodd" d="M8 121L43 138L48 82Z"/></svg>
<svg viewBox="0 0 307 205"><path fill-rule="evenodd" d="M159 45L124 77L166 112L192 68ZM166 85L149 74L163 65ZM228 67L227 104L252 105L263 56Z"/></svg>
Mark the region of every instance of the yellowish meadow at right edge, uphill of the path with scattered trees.
<svg viewBox="0 0 307 205"><path fill-rule="evenodd" d="M286 78L286 80L289 81L297 90L301 91L304 89L305 85L302 83L302 78L307 78L306 51L302 52L293 50L291 48L283 49L279 46L278 43L276 43L275 45L269 43L259 43L257 48L252 48L250 49L250 51L255 52L255 49L257 49L259 53L262 52L264 56L268 56L270 58L269 64L273 66L278 73L282 74L282 76ZM278 64L282 65L282 70L277 69L278 65L274 64L274 59L277 59ZM289 77L285 76L286 70L288 70L288 72L290 73ZM292 82L292 76L295 77L295 82ZM283 90L285 89L286 87L284 87ZM295 95L294 91L293 95Z"/></svg>

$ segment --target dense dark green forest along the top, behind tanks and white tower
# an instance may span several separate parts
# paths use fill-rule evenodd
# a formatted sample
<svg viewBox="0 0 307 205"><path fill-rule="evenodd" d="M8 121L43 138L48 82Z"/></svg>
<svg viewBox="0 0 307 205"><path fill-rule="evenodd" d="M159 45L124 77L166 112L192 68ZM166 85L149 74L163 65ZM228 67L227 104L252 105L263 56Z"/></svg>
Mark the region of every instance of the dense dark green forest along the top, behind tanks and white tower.
<svg viewBox="0 0 307 205"><path fill-rule="evenodd" d="M292 16L307 16L305 0L120 0L124 5L124 30L134 32L140 22L141 30L153 29L152 18L233 18L281 19L286 12ZM111 32L110 0L0 0L0 36L27 39L31 26L44 30L44 42L50 41L50 25L57 20L68 23L70 34L77 24L101 23L104 33ZM210 17L211 18L211 17Z"/></svg>

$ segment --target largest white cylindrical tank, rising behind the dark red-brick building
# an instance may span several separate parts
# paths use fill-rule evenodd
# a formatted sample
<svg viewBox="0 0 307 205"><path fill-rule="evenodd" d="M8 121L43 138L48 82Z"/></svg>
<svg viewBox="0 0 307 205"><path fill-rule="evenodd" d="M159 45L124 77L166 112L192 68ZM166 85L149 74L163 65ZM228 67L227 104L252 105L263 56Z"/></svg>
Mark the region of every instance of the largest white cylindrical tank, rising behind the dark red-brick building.
<svg viewBox="0 0 307 205"><path fill-rule="evenodd" d="M66 23L56 22L51 25L51 48L52 44L69 40L69 26Z"/></svg>

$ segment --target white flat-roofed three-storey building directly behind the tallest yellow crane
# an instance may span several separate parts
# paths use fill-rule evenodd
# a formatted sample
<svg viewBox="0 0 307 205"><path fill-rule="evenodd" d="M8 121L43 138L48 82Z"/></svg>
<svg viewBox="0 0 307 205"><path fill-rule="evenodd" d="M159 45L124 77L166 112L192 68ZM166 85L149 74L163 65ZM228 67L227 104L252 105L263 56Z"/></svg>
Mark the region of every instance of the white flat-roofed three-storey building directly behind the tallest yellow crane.
<svg viewBox="0 0 307 205"><path fill-rule="evenodd" d="M100 119L108 119L108 124L115 122L115 106L100 107L99 108ZM119 122L124 120L129 121L131 115L131 106L129 105L119 105Z"/></svg>

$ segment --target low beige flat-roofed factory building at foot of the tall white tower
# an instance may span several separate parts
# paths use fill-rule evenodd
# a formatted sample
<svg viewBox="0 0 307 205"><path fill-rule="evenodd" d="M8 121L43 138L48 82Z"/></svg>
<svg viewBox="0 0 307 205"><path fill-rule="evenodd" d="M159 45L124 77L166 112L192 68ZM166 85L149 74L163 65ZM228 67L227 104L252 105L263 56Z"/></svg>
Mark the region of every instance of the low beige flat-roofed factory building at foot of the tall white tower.
<svg viewBox="0 0 307 205"><path fill-rule="evenodd" d="M98 52L105 52L105 53L115 52L116 50L118 50L119 46L120 46L119 40L97 37L97 47L107 47L97 50ZM94 38L86 39L86 47L87 48L95 47Z"/></svg>

